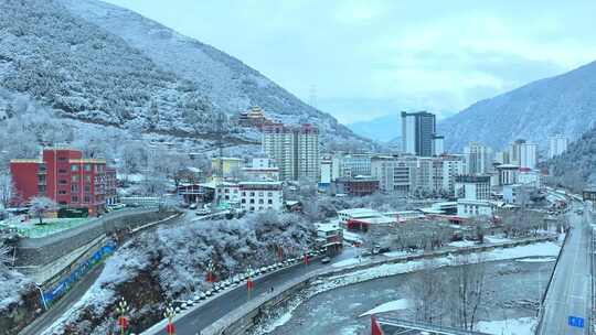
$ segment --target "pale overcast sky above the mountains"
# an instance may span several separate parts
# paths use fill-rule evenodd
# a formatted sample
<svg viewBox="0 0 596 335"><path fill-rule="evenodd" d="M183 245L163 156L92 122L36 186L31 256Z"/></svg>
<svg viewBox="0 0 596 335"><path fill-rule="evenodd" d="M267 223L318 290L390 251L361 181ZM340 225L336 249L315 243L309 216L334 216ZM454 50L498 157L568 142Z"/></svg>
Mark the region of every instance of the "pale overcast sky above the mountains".
<svg viewBox="0 0 596 335"><path fill-rule="evenodd" d="M596 1L108 0L342 122L470 104L596 60Z"/></svg>

